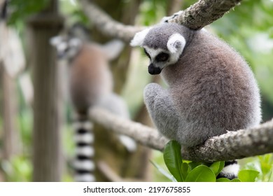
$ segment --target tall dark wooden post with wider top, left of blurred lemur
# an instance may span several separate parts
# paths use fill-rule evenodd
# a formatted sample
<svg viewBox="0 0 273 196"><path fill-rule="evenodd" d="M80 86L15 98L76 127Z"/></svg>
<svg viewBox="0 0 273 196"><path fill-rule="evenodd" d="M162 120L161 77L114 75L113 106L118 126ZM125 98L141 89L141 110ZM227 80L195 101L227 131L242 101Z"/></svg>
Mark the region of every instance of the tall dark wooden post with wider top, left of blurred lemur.
<svg viewBox="0 0 273 196"><path fill-rule="evenodd" d="M62 28L57 0L29 20L34 80L33 181L61 181L61 110L58 69L50 38Z"/></svg>

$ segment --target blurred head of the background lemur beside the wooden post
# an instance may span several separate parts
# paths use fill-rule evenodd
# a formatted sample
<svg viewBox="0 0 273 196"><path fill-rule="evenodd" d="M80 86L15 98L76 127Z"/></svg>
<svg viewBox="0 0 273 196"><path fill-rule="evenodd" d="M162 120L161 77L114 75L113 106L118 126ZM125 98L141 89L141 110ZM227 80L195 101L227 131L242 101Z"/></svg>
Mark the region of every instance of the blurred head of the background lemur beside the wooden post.
<svg viewBox="0 0 273 196"><path fill-rule="evenodd" d="M59 59L71 59L75 57L82 44L79 38L69 38L66 36L55 36L50 39L50 43L55 46Z"/></svg>

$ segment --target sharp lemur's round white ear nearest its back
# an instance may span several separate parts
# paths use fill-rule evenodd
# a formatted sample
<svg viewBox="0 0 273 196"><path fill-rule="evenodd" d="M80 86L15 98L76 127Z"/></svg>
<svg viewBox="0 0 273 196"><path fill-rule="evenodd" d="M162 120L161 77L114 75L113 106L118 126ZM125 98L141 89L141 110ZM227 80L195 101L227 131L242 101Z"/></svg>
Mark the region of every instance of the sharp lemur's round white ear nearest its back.
<svg viewBox="0 0 273 196"><path fill-rule="evenodd" d="M167 48L170 52L182 52L186 45L186 40L181 34L173 34L169 37Z"/></svg>

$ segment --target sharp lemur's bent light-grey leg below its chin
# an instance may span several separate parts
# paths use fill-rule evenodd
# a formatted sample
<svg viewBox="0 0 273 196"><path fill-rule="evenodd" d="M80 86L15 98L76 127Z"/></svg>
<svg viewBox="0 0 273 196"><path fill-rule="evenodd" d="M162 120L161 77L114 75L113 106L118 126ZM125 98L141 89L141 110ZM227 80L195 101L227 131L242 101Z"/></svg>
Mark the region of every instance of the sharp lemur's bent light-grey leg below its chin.
<svg viewBox="0 0 273 196"><path fill-rule="evenodd" d="M156 83L146 85L144 102L153 123L169 139L175 139L179 129L179 116L169 92Z"/></svg>

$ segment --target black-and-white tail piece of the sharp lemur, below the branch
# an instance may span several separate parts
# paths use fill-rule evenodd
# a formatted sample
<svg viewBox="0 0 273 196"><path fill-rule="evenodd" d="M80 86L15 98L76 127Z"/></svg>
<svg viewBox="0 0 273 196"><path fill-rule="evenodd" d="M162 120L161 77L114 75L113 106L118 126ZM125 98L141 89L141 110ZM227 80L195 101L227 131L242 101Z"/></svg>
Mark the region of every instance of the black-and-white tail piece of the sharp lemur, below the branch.
<svg viewBox="0 0 273 196"><path fill-rule="evenodd" d="M239 172L239 165L237 160L230 160L225 162L225 167L223 170L218 174L217 179L220 178L227 178L227 179L237 179Z"/></svg>

